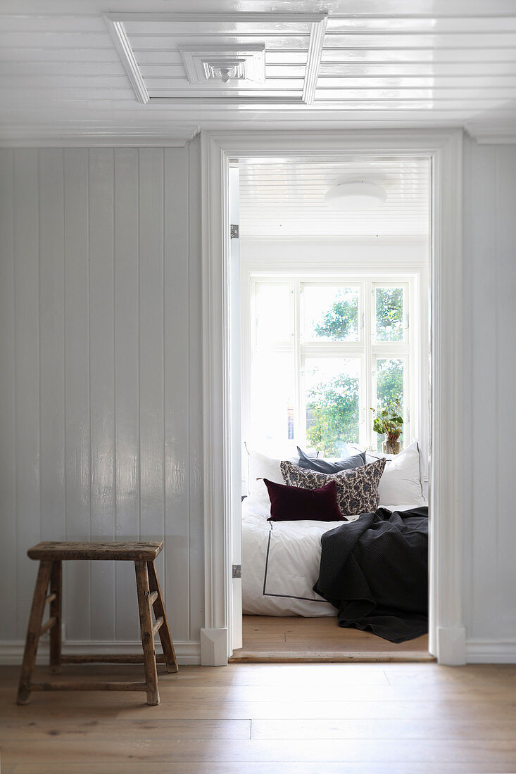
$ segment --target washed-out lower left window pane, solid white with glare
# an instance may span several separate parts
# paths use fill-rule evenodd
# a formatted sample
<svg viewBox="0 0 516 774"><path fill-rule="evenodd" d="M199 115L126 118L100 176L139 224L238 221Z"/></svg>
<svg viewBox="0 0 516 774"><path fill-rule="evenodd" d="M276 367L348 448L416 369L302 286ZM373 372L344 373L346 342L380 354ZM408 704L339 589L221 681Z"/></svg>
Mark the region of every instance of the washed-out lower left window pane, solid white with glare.
<svg viewBox="0 0 516 774"><path fill-rule="evenodd" d="M252 440L273 454L294 437L294 358L266 352L253 358L251 370Z"/></svg>

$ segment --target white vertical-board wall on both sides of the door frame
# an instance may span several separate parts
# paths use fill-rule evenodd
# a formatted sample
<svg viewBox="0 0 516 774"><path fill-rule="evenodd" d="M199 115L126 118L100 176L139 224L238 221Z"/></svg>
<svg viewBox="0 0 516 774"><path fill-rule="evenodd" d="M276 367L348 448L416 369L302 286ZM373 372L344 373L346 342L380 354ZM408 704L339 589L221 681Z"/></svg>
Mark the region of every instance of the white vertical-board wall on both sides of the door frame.
<svg viewBox="0 0 516 774"><path fill-rule="evenodd" d="M464 160L468 658L516 659L516 146L466 139ZM198 141L0 151L4 645L25 635L33 543L163 536L159 571L174 639L183 660L196 657L203 600L198 163ZM66 622L68 641L136 640L132 567L70 565Z"/></svg>

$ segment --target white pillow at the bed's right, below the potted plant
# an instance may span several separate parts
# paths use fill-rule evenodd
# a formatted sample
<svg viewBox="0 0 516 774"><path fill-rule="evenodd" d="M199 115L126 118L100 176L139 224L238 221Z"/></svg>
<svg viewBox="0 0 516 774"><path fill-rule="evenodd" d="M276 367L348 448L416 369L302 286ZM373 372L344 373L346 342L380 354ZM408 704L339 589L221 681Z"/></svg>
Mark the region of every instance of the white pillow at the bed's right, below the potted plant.
<svg viewBox="0 0 516 774"><path fill-rule="evenodd" d="M380 478L378 494L380 506L395 503L403 508L426 505L421 489L419 446L417 440L401 450L400 454L377 454L366 451L366 462L385 457L384 474Z"/></svg>

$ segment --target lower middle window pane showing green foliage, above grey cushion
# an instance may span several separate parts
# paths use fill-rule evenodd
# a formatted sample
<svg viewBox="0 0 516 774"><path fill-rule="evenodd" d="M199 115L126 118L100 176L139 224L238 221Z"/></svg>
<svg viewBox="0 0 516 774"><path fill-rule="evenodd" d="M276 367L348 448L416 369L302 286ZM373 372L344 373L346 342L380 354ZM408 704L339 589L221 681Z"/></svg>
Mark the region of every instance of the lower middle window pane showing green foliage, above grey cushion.
<svg viewBox="0 0 516 774"><path fill-rule="evenodd" d="M306 358L304 399L308 446L326 457L346 454L359 441L358 358Z"/></svg>

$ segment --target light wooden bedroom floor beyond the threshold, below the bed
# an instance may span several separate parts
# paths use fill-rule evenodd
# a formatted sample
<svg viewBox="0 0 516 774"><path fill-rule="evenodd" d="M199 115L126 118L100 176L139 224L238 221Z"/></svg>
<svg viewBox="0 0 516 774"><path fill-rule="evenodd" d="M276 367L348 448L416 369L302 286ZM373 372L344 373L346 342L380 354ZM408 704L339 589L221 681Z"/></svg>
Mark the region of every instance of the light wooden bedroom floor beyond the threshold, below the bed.
<svg viewBox="0 0 516 774"><path fill-rule="evenodd" d="M243 616L243 648L233 661L432 661L428 635L401 645L370 632L340 628L336 618Z"/></svg>

